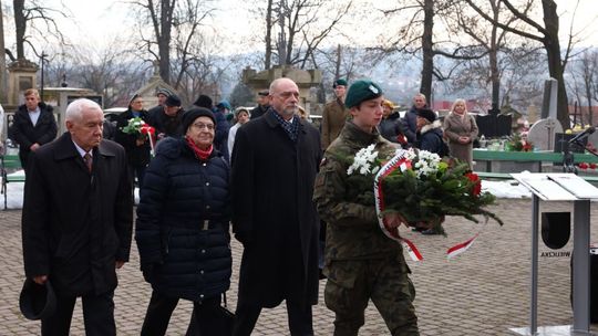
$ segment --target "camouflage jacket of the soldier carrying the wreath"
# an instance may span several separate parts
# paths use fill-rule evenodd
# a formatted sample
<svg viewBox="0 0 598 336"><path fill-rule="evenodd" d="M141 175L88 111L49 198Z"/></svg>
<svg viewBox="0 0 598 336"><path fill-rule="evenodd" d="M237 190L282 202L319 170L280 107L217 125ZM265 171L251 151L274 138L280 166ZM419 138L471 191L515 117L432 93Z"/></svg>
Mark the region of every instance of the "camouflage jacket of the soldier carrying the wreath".
<svg viewBox="0 0 598 336"><path fill-rule="evenodd" d="M396 147L382 138L378 130L369 134L352 122L347 122L340 136L324 153L320 172L316 178L313 200L320 218L328 224L327 264L334 260L372 258L396 256L403 260L401 245L382 233L375 207L364 206L352 199L350 195L359 195L361 190L348 190L347 169L351 165L352 157L371 144L375 144L379 158L391 158L396 150ZM369 187L363 186L363 189L362 192L372 191L373 181Z"/></svg>

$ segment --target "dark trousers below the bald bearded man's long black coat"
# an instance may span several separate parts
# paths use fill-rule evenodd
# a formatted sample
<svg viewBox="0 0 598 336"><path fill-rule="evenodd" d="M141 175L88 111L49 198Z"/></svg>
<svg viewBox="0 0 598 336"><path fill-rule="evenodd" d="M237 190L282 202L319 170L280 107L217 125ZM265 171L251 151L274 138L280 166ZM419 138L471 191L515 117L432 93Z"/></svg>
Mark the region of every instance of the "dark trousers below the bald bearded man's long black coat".
<svg viewBox="0 0 598 336"><path fill-rule="evenodd" d="M234 336L249 336L256 326L261 307L250 303L239 302L235 312ZM298 304L287 302L287 315L289 318L289 329L291 336L311 336L313 335L313 321L311 305L305 307Z"/></svg>

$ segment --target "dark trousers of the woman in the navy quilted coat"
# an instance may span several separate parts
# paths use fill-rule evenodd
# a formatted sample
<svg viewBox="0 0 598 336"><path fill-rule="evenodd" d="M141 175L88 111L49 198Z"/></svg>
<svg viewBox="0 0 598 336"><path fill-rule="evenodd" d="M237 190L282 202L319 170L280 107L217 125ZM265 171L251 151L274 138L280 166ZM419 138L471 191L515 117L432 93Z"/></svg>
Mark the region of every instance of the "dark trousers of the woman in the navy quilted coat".
<svg viewBox="0 0 598 336"><path fill-rule="evenodd" d="M152 292L147 313L142 326L142 336L163 336L166 334L173 311L178 304L178 298L167 297ZM187 328L187 336L220 336L220 326L217 321L217 309L220 306L220 297L204 300L202 303L193 303L193 314Z"/></svg>

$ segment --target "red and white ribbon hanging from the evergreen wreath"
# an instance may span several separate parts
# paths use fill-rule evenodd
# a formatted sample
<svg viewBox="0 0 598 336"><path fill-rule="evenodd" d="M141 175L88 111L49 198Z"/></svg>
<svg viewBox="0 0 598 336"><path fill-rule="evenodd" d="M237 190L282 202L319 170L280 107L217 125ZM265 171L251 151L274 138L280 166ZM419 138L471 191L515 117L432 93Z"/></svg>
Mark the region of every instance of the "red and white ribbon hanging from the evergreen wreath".
<svg viewBox="0 0 598 336"><path fill-rule="evenodd" d="M380 229L382 229L382 232L388 238L401 243L403 245L403 249L405 249L405 251L408 252L409 256L411 256L411 260L421 261L423 260L423 256L422 256L422 253L420 253L420 250L417 250L417 248L415 246L415 244L411 242L410 240L402 238L399 234L399 228L386 228L386 225L384 224L383 217L381 214L385 210L384 190L382 187L382 180L395 169L401 169L401 171L405 171L406 169L411 168L411 160L409 160L405 157L405 154L406 154L406 150L401 150L400 153L398 153L392 159L390 159L390 161L388 161L384 166L382 166L382 168L380 168L380 171L378 171L378 174L375 175L374 186L373 186L374 199L375 199L375 212L378 214L378 224L380 225ZM474 237L446 250L446 258L451 259L467 251L467 249L470 249L473 242L477 239L480 233L482 233L482 230L484 229L484 227L482 227Z"/></svg>

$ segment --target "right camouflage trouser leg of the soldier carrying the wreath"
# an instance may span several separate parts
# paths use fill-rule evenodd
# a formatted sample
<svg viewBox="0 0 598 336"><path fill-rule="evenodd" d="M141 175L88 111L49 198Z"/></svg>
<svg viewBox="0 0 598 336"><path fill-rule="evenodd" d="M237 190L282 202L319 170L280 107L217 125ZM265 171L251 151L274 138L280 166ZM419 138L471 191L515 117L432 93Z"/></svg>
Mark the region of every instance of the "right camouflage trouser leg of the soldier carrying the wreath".
<svg viewBox="0 0 598 336"><path fill-rule="evenodd" d="M391 334L420 335L406 269L398 261L389 260L381 265L375 279L371 298Z"/></svg>

